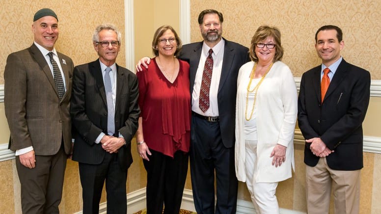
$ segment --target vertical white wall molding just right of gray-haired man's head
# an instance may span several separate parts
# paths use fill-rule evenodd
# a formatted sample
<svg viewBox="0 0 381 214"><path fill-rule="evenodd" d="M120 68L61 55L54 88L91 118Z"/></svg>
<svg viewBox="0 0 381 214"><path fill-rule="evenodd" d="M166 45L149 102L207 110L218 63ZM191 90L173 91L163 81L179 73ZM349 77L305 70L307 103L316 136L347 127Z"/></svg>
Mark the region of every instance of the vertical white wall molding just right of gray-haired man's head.
<svg viewBox="0 0 381 214"><path fill-rule="evenodd" d="M124 44L126 49L126 68L135 71L135 28L134 0L124 0Z"/></svg>

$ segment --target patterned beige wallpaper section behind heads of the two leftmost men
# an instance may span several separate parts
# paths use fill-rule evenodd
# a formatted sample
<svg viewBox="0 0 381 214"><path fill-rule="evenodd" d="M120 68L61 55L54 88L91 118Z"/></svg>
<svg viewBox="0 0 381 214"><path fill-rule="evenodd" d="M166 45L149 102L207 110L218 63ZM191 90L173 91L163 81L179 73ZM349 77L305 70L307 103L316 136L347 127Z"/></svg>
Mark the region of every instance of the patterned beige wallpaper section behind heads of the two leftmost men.
<svg viewBox="0 0 381 214"><path fill-rule="evenodd" d="M0 84L4 84L3 73L6 57L29 47L33 43L34 13L44 7L54 10L58 16L59 38L55 44L58 52L69 55L75 65L98 58L92 45L94 28L102 23L112 23L124 38L124 0L12 0L0 4ZM117 63L125 66L125 48L122 47Z"/></svg>

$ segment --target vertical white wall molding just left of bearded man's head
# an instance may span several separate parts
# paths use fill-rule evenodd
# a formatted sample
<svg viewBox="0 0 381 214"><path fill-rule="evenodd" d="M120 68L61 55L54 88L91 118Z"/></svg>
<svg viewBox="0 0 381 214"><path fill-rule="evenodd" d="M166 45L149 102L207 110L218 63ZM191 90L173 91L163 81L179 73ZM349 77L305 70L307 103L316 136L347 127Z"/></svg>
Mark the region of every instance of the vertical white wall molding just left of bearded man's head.
<svg viewBox="0 0 381 214"><path fill-rule="evenodd" d="M191 43L191 1L180 0L180 39L183 44Z"/></svg>

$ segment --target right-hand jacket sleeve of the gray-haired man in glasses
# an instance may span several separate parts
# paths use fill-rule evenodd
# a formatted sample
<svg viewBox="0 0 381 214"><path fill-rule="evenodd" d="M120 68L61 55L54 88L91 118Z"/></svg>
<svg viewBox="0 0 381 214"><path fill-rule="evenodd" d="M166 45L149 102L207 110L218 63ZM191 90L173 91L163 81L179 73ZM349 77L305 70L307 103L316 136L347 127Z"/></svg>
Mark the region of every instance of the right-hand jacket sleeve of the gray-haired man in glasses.
<svg viewBox="0 0 381 214"><path fill-rule="evenodd" d="M129 98L129 112L128 118L125 122L125 126L121 127L118 131L123 135L126 142L131 142L131 139L134 137L137 126L138 118L140 115L140 109L138 106L138 96L139 88L137 83L136 75L130 75L129 77L129 89L130 89L130 98Z"/></svg>

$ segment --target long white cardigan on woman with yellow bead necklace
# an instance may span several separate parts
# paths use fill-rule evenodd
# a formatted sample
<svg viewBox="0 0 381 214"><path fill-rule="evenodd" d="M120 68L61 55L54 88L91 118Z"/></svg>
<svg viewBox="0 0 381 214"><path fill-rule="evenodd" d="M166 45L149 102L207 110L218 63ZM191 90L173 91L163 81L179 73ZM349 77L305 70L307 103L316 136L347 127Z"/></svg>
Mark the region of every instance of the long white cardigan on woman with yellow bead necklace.
<svg viewBox="0 0 381 214"><path fill-rule="evenodd" d="M241 80L249 78L254 62L245 63L238 74L236 106L235 165L239 181L246 181L245 173L245 102L247 85ZM245 93L242 93L243 90ZM294 130L298 112L298 94L290 68L276 61L261 83L256 107L257 123L257 177L256 182L273 183L291 178L294 163ZM251 109L251 108L249 108ZM286 161L281 166L272 165L272 149L279 143L286 146ZM254 166L253 166L254 167Z"/></svg>

